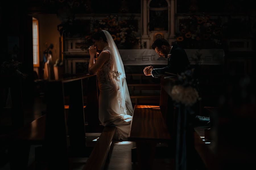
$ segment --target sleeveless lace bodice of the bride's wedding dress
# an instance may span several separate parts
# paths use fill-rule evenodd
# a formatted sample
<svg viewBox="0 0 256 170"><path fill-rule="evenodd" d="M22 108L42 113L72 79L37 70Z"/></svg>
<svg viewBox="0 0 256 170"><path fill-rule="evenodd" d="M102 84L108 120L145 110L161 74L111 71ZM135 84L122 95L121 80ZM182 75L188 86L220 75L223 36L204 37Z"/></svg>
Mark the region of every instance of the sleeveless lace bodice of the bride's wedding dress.
<svg viewBox="0 0 256 170"><path fill-rule="evenodd" d="M112 54L110 51L110 47L106 46L103 48L103 51L106 50L110 53L110 58L108 61L106 61L102 67L100 68L100 70L96 73L97 78L98 78L98 82L99 82L99 86L101 84L106 84L112 81ZM99 87L100 88L100 87Z"/></svg>

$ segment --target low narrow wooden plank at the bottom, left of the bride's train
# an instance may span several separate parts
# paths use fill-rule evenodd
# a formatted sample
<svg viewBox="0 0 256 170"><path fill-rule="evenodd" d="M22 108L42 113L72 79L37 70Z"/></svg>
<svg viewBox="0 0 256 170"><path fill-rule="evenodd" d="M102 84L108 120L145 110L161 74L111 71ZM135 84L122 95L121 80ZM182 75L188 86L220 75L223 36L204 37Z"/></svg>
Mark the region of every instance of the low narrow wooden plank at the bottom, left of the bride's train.
<svg viewBox="0 0 256 170"><path fill-rule="evenodd" d="M83 170L104 169L110 146L112 144L113 136L115 134L115 128L116 127L113 126L104 127Z"/></svg>

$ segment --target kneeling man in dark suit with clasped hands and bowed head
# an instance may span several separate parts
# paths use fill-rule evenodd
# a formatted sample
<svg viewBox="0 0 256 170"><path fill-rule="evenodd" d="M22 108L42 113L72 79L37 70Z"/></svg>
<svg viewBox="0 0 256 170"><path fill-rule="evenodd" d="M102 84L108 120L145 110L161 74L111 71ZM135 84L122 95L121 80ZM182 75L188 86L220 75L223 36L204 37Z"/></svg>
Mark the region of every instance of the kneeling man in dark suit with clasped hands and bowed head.
<svg viewBox="0 0 256 170"><path fill-rule="evenodd" d="M170 46L168 41L160 38L154 41L151 47L156 51L159 57L168 58L168 64L166 67L161 69L154 69L152 66L145 67L143 72L146 76L159 77L162 75L168 75L168 73L180 74L190 68L187 54L185 50L179 46ZM210 119L204 116L195 116L193 124L194 127L209 128Z"/></svg>

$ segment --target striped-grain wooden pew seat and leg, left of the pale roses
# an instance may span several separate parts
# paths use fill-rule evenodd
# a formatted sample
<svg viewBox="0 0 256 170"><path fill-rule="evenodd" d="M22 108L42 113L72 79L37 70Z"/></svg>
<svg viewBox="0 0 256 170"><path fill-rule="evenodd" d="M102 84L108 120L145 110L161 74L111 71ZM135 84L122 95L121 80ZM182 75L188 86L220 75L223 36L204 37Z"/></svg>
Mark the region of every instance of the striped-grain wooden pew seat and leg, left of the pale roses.
<svg viewBox="0 0 256 170"><path fill-rule="evenodd" d="M135 105L133 112L133 120L129 132L129 140L136 142L136 147L132 152L136 152L133 157L137 158L139 163L138 169L152 169L153 159L159 155L168 155L164 152L171 152L173 148L165 147L164 152L160 148L156 148L156 144L172 143L173 136L170 135L166 126L166 109L168 95L161 88L160 106L152 105ZM162 112L163 111L163 112ZM138 129L141 129L138 130ZM161 150L161 151L160 151ZM170 155L168 155L170 158ZM132 158L135 160L135 158Z"/></svg>

